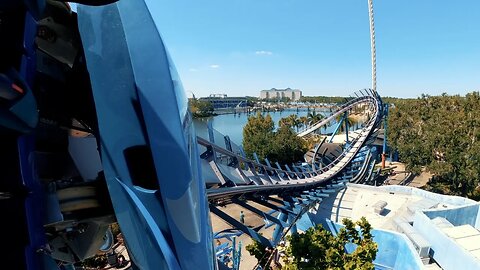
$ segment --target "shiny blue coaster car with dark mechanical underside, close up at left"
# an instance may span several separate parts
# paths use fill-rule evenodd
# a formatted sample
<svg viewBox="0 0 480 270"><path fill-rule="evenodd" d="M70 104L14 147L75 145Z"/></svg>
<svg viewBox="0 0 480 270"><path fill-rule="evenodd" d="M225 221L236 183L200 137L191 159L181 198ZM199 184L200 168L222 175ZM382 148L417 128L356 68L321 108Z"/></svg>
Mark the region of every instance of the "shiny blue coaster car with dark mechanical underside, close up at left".
<svg viewBox="0 0 480 270"><path fill-rule="evenodd" d="M0 268L73 267L114 222L132 269L217 268L154 1L78 2L0 2Z"/></svg>

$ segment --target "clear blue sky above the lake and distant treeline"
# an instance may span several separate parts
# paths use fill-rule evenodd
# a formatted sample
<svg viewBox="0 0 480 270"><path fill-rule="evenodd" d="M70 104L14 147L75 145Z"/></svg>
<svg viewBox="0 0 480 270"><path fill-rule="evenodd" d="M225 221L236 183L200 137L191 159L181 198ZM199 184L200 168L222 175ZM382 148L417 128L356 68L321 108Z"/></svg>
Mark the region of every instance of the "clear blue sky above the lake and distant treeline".
<svg viewBox="0 0 480 270"><path fill-rule="evenodd" d="M197 96L272 87L348 95L371 85L367 0L156 2L164 42ZM381 95L480 90L480 1L374 6Z"/></svg>

